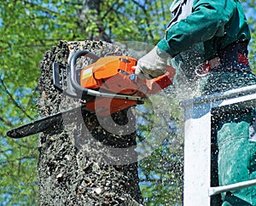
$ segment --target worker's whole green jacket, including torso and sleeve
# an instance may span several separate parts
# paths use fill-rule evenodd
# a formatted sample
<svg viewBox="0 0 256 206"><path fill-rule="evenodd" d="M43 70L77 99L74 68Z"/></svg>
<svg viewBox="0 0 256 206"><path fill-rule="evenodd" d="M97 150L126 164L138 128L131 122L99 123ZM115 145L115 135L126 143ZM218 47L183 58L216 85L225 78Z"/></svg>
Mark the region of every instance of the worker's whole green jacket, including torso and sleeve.
<svg viewBox="0 0 256 206"><path fill-rule="evenodd" d="M176 0L172 5L186 2L189 1ZM250 40L247 20L238 0L195 0L191 12L168 27L166 37L157 44L171 56L203 43L203 57L208 60L230 43Z"/></svg>

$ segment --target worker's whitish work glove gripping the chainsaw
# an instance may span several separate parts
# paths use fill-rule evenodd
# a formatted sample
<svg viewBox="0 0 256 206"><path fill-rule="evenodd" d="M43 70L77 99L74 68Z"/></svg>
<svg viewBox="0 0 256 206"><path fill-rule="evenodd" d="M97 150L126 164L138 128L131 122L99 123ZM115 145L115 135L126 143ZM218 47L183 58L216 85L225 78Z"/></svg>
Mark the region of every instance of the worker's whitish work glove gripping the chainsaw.
<svg viewBox="0 0 256 206"><path fill-rule="evenodd" d="M165 74L169 56L169 54L155 46L154 49L137 61L136 76L151 79Z"/></svg>

